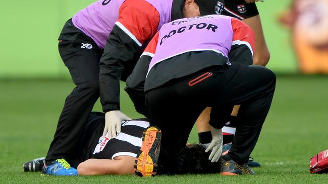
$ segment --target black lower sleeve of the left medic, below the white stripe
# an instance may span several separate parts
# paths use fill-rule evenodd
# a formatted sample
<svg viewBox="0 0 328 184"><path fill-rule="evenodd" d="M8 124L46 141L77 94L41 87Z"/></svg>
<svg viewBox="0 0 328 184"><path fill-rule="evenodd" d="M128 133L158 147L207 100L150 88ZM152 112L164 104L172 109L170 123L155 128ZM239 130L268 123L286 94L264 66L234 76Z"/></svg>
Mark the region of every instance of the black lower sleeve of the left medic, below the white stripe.
<svg viewBox="0 0 328 184"><path fill-rule="evenodd" d="M100 102L103 112L120 110L120 79L133 62L139 46L117 25L108 36L99 67Z"/></svg>

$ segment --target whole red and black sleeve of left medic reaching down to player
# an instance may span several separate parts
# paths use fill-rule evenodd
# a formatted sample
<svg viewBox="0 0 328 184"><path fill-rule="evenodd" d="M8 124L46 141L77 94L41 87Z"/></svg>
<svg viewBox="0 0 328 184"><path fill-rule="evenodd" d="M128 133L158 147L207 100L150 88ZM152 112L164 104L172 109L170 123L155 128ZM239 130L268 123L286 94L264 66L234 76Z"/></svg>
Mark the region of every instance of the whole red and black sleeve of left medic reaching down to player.
<svg viewBox="0 0 328 184"><path fill-rule="evenodd" d="M157 31L159 13L143 0L125 1L100 59L100 101L104 112L120 110L120 78L124 65Z"/></svg>

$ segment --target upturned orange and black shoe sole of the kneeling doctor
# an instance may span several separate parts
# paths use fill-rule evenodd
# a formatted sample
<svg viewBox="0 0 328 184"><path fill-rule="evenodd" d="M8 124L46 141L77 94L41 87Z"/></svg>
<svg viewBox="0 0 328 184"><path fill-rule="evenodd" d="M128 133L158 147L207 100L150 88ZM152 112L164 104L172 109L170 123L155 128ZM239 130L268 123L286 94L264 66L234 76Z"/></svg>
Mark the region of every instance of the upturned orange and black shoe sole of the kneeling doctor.
<svg viewBox="0 0 328 184"><path fill-rule="evenodd" d="M155 126L146 128L142 135L142 145L134 164L137 176L150 177L157 173L161 131Z"/></svg>

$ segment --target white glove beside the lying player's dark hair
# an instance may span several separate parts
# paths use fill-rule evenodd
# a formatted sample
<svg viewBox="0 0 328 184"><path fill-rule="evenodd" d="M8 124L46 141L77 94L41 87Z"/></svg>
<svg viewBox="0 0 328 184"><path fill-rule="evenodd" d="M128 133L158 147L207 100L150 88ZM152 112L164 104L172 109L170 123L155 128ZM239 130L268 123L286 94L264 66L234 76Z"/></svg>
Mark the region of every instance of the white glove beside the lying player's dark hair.
<svg viewBox="0 0 328 184"><path fill-rule="evenodd" d="M216 129L211 127L211 134L212 141L205 150L205 152L207 153L209 150L212 150L211 154L208 157L208 160L210 160L211 162L216 162L222 154L222 129Z"/></svg>

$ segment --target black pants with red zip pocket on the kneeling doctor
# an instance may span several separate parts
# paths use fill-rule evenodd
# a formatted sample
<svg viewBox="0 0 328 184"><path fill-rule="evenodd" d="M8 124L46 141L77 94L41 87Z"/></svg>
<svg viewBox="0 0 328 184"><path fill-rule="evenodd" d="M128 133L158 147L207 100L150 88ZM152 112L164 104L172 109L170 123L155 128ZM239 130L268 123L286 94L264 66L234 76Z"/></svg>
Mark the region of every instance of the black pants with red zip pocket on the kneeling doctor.
<svg viewBox="0 0 328 184"><path fill-rule="evenodd" d="M199 78L199 76L201 76ZM222 128L234 105L241 105L232 148L228 155L237 163L246 163L259 137L274 96L276 75L262 66L233 63L214 67L171 80L149 90L146 100L151 125L162 131L158 164L179 172L179 156L188 136L205 107L212 107L210 125ZM163 171L168 172L168 171Z"/></svg>

